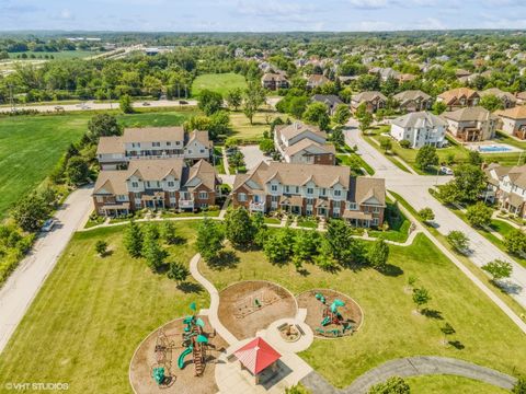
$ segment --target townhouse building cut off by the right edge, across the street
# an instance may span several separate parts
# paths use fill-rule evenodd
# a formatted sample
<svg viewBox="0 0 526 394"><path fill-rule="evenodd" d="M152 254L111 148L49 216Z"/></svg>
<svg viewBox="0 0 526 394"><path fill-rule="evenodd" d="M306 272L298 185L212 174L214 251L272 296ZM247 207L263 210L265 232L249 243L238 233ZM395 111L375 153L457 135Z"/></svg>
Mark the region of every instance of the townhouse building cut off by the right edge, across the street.
<svg viewBox="0 0 526 394"><path fill-rule="evenodd" d="M496 201L500 209L526 218L526 165L492 163L484 171L488 189L482 197Z"/></svg>

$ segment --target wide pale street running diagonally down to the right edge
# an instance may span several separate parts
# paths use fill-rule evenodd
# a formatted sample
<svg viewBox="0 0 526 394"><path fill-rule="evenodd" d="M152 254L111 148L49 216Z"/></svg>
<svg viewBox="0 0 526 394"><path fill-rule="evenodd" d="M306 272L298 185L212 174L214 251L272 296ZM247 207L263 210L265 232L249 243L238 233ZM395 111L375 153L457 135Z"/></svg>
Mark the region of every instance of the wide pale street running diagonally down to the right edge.
<svg viewBox="0 0 526 394"><path fill-rule="evenodd" d="M470 248L473 251L469 258L477 266L480 267L495 258L510 260L505 253L430 195L427 192L430 187L447 183L450 177L413 175L401 171L362 138L355 119L351 119L347 124L345 140L348 146L358 147L358 153L375 169L375 176L386 178L389 190L401 195L415 210L424 207L433 209L434 221L441 234L446 235L451 230L466 233L471 241ZM513 274L508 280L508 291L521 305L526 308L526 268L514 262L512 264Z"/></svg>

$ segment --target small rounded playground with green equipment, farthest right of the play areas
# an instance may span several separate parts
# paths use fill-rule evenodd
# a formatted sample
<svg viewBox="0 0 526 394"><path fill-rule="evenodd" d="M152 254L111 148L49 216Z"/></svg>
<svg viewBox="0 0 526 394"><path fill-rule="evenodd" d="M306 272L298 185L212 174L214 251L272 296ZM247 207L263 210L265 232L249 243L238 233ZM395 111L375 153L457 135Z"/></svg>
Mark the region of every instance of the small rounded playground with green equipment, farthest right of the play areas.
<svg viewBox="0 0 526 394"><path fill-rule="evenodd" d="M312 289L296 297L307 310L305 322L319 338L352 335L363 323L359 305L348 296L331 289Z"/></svg>

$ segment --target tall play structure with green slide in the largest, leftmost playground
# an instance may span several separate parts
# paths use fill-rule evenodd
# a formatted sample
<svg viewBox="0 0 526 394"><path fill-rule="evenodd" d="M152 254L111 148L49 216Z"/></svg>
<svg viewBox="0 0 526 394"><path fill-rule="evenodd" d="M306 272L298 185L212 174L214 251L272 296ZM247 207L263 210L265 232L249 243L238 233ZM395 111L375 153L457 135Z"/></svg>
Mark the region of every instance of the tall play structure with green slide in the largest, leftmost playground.
<svg viewBox="0 0 526 394"><path fill-rule="evenodd" d="M190 309L195 312L195 303L190 305ZM184 351L179 355L178 367L184 369L184 359L186 356L192 355L192 361L194 363L195 375L201 376L205 370L206 363L206 348L208 346L208 338L204 334L205 323L195 314L187 316L183 320L184 332L182 334L182 346Z"/></svg>

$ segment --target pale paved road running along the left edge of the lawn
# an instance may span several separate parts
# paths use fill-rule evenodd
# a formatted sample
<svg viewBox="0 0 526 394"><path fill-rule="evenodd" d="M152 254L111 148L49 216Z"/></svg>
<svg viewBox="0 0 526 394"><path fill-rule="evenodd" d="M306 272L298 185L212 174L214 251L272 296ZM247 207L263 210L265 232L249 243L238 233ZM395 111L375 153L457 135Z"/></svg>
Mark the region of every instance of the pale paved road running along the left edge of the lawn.
<svg viewBox="0 0 526 394"><path fill-rule="evenodd" d="M58 221L56 227L38 237L30 255L20 263L0 290L0 352L55 267L71 235L92 211L91 193L92 187L71 193L55 215Z"/></svg>

